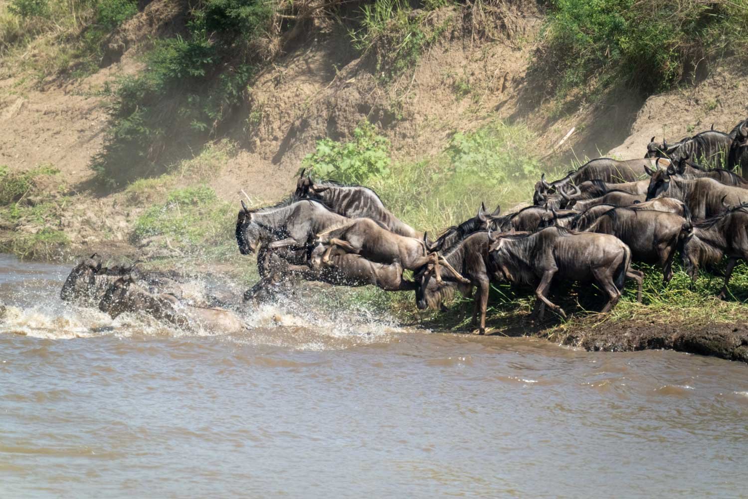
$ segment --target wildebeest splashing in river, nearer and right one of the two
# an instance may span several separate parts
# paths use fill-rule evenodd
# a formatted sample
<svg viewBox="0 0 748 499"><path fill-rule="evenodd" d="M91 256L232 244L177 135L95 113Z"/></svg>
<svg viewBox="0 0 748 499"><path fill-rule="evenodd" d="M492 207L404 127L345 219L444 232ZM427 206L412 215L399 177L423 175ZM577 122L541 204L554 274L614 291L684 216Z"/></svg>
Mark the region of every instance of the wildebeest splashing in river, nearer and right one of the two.
<svg viewBox="0 0 748 499"><path fill-rule="evenodd" d="M99 310L108 313L112 319L123 312L147 313L190 331L219 329L235 333L248 329L246 323L230 310L185 304L169 293L149 293L130 275L123 275L107 288L99 301Z"/></svg>

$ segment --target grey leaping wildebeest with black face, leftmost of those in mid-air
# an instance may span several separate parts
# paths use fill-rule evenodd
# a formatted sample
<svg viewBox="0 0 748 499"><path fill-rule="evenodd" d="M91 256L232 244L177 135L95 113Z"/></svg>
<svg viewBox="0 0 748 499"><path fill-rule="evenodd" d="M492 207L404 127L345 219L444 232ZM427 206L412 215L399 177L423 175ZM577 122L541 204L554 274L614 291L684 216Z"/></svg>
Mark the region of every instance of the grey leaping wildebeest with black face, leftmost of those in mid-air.
<svg viewBox="0 0 748 499"><path fill-rule="evenodd" d="M275 206L250 210L242 201L236 220L236 244L241 254L292 246L304 248L317 233L350 221L314 200L282 201Z"/></svg>

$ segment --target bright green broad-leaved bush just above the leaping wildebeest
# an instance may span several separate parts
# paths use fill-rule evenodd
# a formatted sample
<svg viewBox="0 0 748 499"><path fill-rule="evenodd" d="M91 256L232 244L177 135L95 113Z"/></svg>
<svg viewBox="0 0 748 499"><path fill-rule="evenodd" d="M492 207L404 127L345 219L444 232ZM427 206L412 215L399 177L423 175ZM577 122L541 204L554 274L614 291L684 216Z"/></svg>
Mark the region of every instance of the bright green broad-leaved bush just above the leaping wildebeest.
<svg viewBox="0 0 748 499"><path fill-rule="evenodd" d="M390 141L377 135L368 121L353 131L353 140L341 144L331 138L317 142L314 153L303 165L318 177L345 183L365 183L372 177L390 174Z"/></svg>

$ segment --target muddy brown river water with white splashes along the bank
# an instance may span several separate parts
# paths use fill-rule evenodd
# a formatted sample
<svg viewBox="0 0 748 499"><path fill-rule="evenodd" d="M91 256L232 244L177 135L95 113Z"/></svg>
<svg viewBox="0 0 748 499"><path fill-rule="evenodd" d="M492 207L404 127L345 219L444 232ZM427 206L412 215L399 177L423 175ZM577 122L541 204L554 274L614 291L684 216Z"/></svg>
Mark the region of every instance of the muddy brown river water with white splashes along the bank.
<svg viewBox="0 0 748 499"><path fill-rule="evenodd" d="M0 497L748 497L748 365L266 307L183 334L0 256ZM301 307L300 310L304 310Z"/></svg>

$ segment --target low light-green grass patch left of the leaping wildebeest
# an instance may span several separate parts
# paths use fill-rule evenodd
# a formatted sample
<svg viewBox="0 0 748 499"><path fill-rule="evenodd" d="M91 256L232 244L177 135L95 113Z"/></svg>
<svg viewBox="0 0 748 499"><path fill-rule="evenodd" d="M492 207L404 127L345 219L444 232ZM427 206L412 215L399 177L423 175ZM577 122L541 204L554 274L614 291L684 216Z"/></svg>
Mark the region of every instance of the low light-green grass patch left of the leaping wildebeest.
<svg viewBox="0 0 748 499"><path fill-rule="evenodd" d="M165 203L151 206L135 221L132 239L159 237L165 246L194 252L233 242L236 209L218 200L208 186L169 192ZM236 244L236 243L234 243Z"/></svg>

